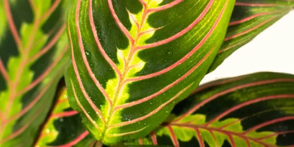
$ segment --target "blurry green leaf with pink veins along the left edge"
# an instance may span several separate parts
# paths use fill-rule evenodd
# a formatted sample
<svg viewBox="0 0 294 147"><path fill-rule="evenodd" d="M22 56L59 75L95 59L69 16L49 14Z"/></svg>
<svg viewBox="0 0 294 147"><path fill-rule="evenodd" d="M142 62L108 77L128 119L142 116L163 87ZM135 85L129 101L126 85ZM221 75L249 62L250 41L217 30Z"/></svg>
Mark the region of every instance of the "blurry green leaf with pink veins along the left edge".
<svg viewBox="0 0 294 147"><path fill-rule="evenodd" d="M31 146L70 59L65 1L0 1L0 146Z"/></svg>

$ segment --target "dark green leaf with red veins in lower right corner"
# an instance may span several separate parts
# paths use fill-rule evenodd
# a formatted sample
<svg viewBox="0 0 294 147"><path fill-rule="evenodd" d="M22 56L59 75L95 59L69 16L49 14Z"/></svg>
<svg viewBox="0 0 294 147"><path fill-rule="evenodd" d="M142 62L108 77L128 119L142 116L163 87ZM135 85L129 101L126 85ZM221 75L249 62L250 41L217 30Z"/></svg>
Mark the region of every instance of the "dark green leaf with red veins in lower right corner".
<svg viewBox="0 0 294 147"><path fill-rule="evenodd" d="M200 86L151 135L127 144L293 146L293 124L294 75L256 73Z"/></svg>

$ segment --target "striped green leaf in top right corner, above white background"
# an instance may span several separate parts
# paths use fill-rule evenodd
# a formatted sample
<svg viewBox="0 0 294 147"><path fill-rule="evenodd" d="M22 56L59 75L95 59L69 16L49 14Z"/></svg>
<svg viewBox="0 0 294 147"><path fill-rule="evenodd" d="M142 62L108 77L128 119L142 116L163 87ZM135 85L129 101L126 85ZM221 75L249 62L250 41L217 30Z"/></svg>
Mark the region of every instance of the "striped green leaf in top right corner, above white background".
<svg viewBox="0 0 294 147"><path fill-rule="evenodd" d="M208 72L293 10L291 0L236 0L225 40ZM274 35L274 34L273 34Z"/></svg>

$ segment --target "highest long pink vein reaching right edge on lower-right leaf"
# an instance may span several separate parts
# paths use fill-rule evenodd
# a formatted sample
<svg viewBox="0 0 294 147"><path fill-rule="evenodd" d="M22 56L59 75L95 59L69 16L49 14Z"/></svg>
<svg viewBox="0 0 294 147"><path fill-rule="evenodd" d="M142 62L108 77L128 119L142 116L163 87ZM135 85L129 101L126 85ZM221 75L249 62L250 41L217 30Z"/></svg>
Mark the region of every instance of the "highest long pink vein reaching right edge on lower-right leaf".
<svg viewBox="0 0 294 147"><path fill-rule="evenodd" d="M277 82L294 82L294 79L291 78L282 78L282 79L271 79L271 80L265 80L265 81L258 81L258 82L253 82L253 83L246 83L244 85L238 85L235 86L233 88L227 89L225 91L219 92L214 94L213 96L205 99L204 101L202 101L201 103L198 103L197 105L195 105L193 108L191 108L188 112L186 112L185 114L183 114L182 116L180 116L178 119L176 119L176 121L181 120L182 118L192 114L193 112L195 112L196 110L198 110L198 108L204 106L206 103L218 98L219 96L223 96L227 93L239 90L239 89L243 89L243 88L247 88L247 87L252 87L252 86L259 86L259 85L264 85L264 84L270 84L270 83L277 83Z"/></svg>

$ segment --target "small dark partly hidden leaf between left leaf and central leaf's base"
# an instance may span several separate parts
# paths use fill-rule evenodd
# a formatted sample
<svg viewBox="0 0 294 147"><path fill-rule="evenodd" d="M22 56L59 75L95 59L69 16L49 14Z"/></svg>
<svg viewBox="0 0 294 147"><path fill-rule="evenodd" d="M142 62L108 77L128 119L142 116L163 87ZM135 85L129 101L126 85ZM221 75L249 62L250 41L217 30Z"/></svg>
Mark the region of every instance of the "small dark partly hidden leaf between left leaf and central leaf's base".
<svg viewBox="0 0 294 147"><path fill-rule="evenodd" d="M69 106L66 88L61 88L34 147L92 147L94 143L78 112Z"/></svg>

